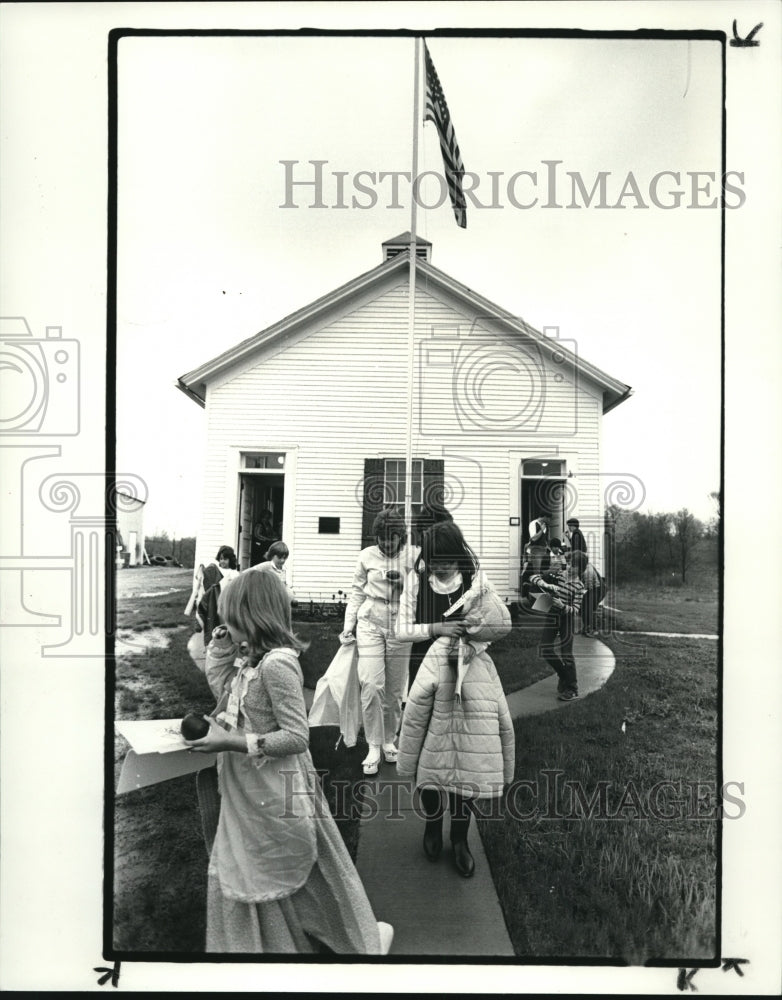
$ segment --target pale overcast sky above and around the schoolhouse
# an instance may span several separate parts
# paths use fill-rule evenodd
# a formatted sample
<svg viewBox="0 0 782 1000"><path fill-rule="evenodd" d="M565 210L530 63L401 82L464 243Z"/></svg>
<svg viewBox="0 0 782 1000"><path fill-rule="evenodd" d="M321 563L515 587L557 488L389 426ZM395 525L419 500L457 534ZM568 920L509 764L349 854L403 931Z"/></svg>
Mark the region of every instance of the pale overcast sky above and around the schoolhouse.
<svg viewBox="0 0 782 1000"><path fill-rule="evenodd" d="M432 38L429 48L465 167L479 177L476 197L501 206L468 202L466 230L448 203L419 209L432 262L538 329L559 327L631 385L633 397L604 421L604 472L637 476L644 509L710 517L720 459L718 43ZM149 485L146 531L182 536L198 529L205 421L177 377L375 266L381 242L409 228L405 182L395 203L388 178L373 185L365 175L376 204L351 202L370 202L359 171L410 170L413 41L124 38L119 52L117 468ZM441 171L434 126L421 135L419 172ZM288 198L298 208L281 207L282 160L299 161L296 180L314 176L308 161L327 161L329 207L309 207L305 187ZM346 208L332 207L340 171ZM509 191L519 171L537 182L522 176ZM568 207L569 175L589 191L601 171L609 207ZM655 182L663 171L679 181ZM434 182L421 190L437 200ZM660 207L676 205L675 191L678 207ZM514 197L538 202L518 208Z"/></svg>

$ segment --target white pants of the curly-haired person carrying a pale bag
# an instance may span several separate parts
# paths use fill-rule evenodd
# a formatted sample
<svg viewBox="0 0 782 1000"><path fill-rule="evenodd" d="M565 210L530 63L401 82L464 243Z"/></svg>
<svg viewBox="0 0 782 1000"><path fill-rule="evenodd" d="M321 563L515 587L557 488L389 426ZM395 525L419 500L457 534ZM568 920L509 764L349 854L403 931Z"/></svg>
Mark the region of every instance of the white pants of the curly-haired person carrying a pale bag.
<svg viewBox="0 0 782 1000"><path fill-rule="evenodd" d="M394 638L396 605L369 598L356 624L361 712L367 743L393 743L402 718L410 643Z"/></svg>

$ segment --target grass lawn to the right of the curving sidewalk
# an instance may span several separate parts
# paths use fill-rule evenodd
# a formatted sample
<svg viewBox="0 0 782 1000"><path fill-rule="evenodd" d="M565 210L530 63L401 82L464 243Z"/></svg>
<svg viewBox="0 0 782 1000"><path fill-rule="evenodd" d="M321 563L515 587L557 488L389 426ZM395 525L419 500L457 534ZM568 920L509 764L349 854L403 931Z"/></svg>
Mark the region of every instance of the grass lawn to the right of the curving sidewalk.
<svg viewBox="0 0 782 1000"><path fill-rule="evenodd" d="M700 799L715 791L716 644L608 645L597 695L516 723L516 778L537 794L479 823L514 950L714 958L716 823Z"/></svg>

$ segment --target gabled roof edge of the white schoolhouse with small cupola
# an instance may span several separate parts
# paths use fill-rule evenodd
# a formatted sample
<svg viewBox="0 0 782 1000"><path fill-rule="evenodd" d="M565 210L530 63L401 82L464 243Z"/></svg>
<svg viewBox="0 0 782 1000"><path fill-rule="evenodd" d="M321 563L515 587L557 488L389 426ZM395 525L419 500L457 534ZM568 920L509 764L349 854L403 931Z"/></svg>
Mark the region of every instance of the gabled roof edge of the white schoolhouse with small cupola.
<svg viewBox="0 0 782 1000"><path fill-rule="evenodd" d="M317 323L320 318L323 318L325 321L329 312L348 303L352 298L371 292L373 286L386 283L390 278L393 278L396 272L400 272L398 277L403 279L409 270L409 241L409 232L403 233L393 240L387 240L386 244L407 242L408 249L396 254L389 260L383 261L382 264L372 268L371 271L365 271L364 274L353 278L352 281L340 285L339 288L335 288L334 291L329 292L327 295L315 299L314 302L304 306L303 309L298 309L278 323L274 323L265 330L261 330L260 333L248 337L246 340L241 341L241 343L212 358L211 361L207 361L199 368L195 368L193 371L183 375L177 380L177 388L181 389L187 396L190 396L191 399L194 399L200 406L204 406L208 384L233 365L249 360L261 347L265 347L275 340L290 334L292 330L305 322ZM431 246L428 241L422 240L420 237L416 239L416 243ZM429 287L434 286L441 289L453 298L460 300L471 310L477 311L481 316L490 318L508 330L530 338L533 342L551 348L552 341L545 334L529 326L528 323L519 319L518 316L512 315L506 309L474 292L471 288L468 288L446 274L445 271L440 271L428 261L421 260L420 258L416 261L416 274L424 277ZM589 364L582 357L577 357L564 347L561 348L561 352L565 355L566 360L574 365L577 371L590 378L602 388L603 413L607 413L615 406L624 402L632 393L630 386L625 385L624 382L620 382L618 379L612 378L600 368Z"/></svg>

